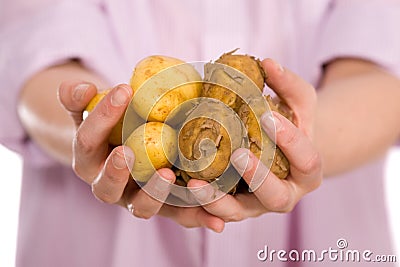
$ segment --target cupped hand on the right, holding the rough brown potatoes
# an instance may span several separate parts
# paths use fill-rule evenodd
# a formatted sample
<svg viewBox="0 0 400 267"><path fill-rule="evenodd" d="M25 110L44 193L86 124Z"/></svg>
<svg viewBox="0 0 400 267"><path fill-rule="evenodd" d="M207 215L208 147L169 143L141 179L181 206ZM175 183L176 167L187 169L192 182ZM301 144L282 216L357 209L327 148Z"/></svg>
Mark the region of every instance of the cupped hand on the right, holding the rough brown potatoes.
<svg viewBox="0 0 400 267"><path fill-rule="evenodd" d="M243 174L253 193L223 195L205 181L190 180L189 188L204 186L192 190L199 202L204 203L203 208L225 222L241 221L266 212L289 212L322 181L321 158L312 143L315 89L270 59L264 60L262 65L268 76L268 86L294 113L294 124L276 112L272 113L273 118L267 113L261 118L267 134L271 135L276 128L276 143L290 162L290 173L286 179L279 179L254 154L241 148L232 154L231 162ZM219 199L212 202L215 197Z"/></svg>

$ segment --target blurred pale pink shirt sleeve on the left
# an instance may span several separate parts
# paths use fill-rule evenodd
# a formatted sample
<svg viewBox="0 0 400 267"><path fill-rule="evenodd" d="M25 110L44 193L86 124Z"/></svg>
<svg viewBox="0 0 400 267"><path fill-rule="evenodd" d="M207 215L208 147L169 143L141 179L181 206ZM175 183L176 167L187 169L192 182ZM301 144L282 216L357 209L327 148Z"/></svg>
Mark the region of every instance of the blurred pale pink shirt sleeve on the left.
<svg viewBox="0 0 400 267"><path fill-rule="evenodd" d="M110 81L107 73L118 66L118 49L106 10L95 0L43 1L40 8L22 4L30 1L15 1L20 7L7 2L3 12L9 5L13 14L0 19L0 143L22 153L30 143L17 115L24 82L71 58Z"/></svg>

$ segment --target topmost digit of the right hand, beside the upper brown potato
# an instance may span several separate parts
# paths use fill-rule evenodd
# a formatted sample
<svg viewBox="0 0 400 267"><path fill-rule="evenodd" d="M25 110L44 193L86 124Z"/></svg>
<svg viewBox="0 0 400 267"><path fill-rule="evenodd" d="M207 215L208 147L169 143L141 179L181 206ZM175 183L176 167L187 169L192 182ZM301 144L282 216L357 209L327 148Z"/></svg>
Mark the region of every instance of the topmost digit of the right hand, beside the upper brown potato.
<svg viewBox="0 0 400 267"><path fill-rule="evenodd" d="M272 59L263 60L262 66L267 73L267 85L294 112L295 124L309 134L317 98L314 87Z"/></svg>

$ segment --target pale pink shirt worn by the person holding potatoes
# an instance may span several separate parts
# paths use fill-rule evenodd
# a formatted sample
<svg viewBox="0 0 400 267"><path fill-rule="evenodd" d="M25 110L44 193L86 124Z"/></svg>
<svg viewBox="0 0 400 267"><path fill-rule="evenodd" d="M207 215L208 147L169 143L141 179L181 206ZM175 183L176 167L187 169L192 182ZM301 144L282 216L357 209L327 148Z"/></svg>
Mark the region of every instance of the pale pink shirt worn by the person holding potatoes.
<svg viewBox="0 0 400 267"><path fill-rule="evenodd" d="M82 59L111 85L127 82L148 55L211 60L237 47L272 57L313 84L323 63L343 56L373 60L400 75L399 25L397 0L3 1L0 142L24 158L17 265L313 266L318 263L284 262L277 254L272 262L258 257L265 257L266 247L319 255L340 250L340 238L347 249L372 251L372 259L394 254L384 159L326 179L290 214L229 223L215 234L161 217L137 219L98 202L70 168L28 138L16 103L26 79L69 58ZM335 263L327 255L322 264L365 266Z"/></svg>

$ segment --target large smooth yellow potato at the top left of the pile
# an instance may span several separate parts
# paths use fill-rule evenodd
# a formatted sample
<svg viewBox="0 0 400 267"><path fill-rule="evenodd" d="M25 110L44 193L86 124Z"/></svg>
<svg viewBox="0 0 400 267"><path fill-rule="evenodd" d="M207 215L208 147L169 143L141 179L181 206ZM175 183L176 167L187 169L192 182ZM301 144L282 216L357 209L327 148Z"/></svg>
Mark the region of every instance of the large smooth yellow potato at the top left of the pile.
<svg viewBox="0 0 400 267"><path fill-rule="evenodd" d="M200 96L201 80L182 60L149 56L136 65L130 80L133 108L147 121L164 122L181 103Z"/></svg>

